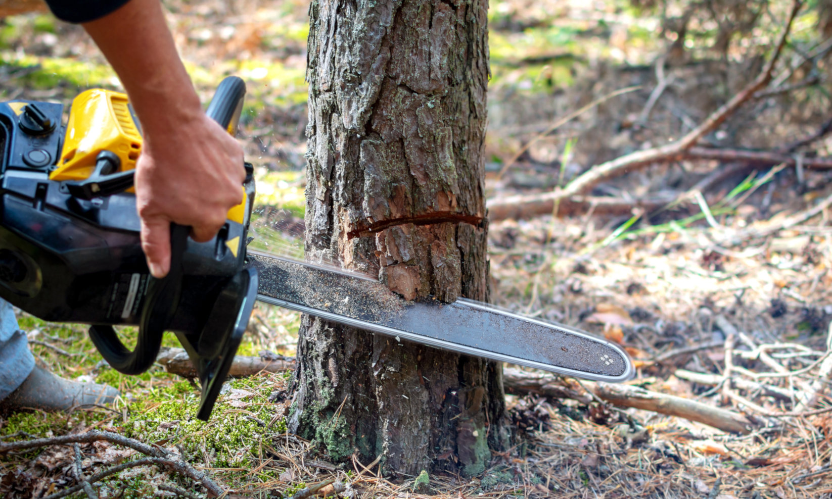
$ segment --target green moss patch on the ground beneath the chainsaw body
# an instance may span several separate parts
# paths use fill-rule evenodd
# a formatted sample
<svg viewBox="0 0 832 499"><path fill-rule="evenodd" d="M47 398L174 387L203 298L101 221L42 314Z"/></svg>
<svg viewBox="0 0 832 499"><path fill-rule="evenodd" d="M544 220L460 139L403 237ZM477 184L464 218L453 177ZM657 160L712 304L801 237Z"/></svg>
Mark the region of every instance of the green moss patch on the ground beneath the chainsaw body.
<svg viewBox="0 0 832 499"><path fill-rule="evenodd" d="M295 315L263 314L266 321L284 320L287 323L295 321ZM118 373L102 363L101 355L87 337L86 326L49 324L27 314L21 314L18 323L33 338L72 354L67 357L51 348L33 344L32 351L52 371L67 378L84 376L85 380L110 384L120 390L121 399L116 401L115 412L79 410L68 416L64 413L13 413L0 418L0 437L16 432L26 432L32 437L52 437L71 430L111 428L141 442L169 448L181 446L192 463L212 468L211 475L230 486L277 480L280 468L264 467L258 472L252 472L252 469L265 459L265 449L270 443L286 432L285 421L277 413L280 406L268 400L275 388L285 387L283 373L230 380L226 383L225 393L217 400L210 421L201 422L194 417L200 393L183 378L167 373L160 366L138 376ZM285 324L280 325L286 329ZM135 328L122 328L120 333L126 343L135 343ZM172 334L166 335L164 344L180 346ZM263 349L260 338L251 334L244 337L242 347L244 353ZM27 436L16 438L26 439ZM33 450L20 458L28 461L41 452L42 449ZM134 470L120 473L108 482L115 495L123 487L125 492L121 497L150 497L154 491L142 479L142 473L148 472L156 473L150 469Z"/></svg>

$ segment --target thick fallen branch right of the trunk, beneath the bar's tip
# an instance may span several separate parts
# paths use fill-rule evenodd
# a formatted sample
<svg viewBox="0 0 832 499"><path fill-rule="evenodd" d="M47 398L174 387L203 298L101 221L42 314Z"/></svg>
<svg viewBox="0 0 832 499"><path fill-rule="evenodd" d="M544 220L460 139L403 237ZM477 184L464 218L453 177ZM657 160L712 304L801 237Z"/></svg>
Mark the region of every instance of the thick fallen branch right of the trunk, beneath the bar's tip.
<svg viewBox="0 0 832 499"><path fill-rule="evenodd" d="M556 388L557 378L550 374L527 373L516 368L503 369L503 387L506 393L523 395L534 393L552 398L572 398L582 403L592 401L586 393L576 393L562 385ZM715 408L705 403L686 398L651 392L641 387L626 384L582 382L587 392L607 403L622 408L638 408L668 416L682 417L726 432L750 433L755 425L741 414Z"/></svg>

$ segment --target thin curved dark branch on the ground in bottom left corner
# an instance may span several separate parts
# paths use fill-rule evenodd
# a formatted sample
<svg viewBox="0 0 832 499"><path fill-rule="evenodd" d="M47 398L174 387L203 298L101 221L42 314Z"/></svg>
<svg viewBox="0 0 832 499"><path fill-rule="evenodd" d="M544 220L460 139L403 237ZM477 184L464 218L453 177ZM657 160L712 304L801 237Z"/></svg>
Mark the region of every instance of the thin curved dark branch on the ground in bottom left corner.
<svg viewBox="0 0 832 499"><path fill-rule="evenodd" d="M128 437L113 432L101 432L93 430L92 432L76 433L72 435L62 435L60 437L36 438L33 440L20 440L17 442L0 442L0 454L12 451L25 451L38 447L49 447L52 445L67 445L70 443L92 443L105 440L106 442L115 443L124 447L130 447L133 450L151 456L152 463L161 467L166 467L173 472L180 473L186 477L191 478L194 482L198 482L202 487L206 487L210 497L220 497L225 491L222 487L210 479L204 472L200 472L192 467L188 462L176 457L175 454L162 449L161 447L151 447L145 443L139 442ZM92 483L92 477L87 479L85 483ZM83 487L83 483L81 484ZM76 490L82 490L79 487Z"/></svg>

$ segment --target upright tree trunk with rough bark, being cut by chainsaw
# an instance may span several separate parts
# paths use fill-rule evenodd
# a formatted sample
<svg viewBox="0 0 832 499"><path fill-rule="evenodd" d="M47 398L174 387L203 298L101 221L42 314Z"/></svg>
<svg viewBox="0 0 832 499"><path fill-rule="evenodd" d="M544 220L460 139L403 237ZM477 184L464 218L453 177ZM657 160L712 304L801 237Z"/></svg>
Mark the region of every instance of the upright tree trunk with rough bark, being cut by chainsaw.
<svg viewBox="0 0 832 499"><path fill-rule="evenodd" d="M487 9L312 2L307 258L407 299L488 299ZM471 475L508 442L497 363L305 317L295 380L290 427L333 460Z"/></svg>

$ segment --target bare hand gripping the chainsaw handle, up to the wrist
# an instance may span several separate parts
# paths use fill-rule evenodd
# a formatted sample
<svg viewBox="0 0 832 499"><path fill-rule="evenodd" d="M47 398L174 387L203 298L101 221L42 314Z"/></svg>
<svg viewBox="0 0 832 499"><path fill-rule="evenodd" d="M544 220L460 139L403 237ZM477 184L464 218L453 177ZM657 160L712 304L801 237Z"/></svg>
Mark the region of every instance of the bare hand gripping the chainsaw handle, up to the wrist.
<svg viewBox="0 0 832 499"><path fill-rule="evenodd" d="M136 162L141 249L157 278L171 266L171 222L190 225L196 241L210 240L242 202L245 180L240 145L201 109L170 125L145 129Z"/></svg>

